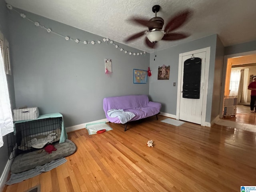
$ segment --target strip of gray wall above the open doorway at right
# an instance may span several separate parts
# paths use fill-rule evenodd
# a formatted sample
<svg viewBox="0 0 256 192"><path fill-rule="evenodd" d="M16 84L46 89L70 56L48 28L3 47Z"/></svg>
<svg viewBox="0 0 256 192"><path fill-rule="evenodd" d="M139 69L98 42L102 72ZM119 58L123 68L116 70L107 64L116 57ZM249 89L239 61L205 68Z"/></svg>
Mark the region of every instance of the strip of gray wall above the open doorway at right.
<svg viewBox="0 0 256 192"><path fill-rule="evenodd" d="M231 54L244 53L244 52L249 52L254 50L256 50L256 40L225 47L224 54L231 55Z"/></svg>

